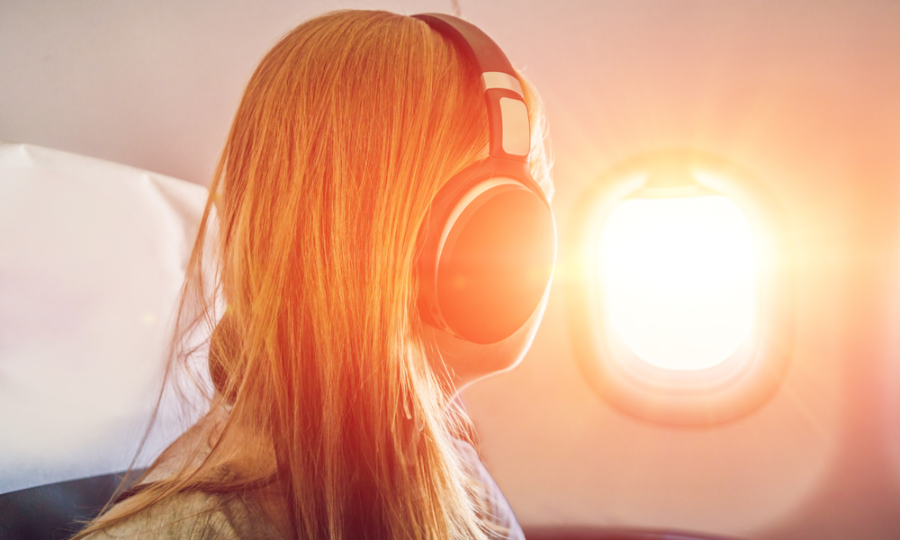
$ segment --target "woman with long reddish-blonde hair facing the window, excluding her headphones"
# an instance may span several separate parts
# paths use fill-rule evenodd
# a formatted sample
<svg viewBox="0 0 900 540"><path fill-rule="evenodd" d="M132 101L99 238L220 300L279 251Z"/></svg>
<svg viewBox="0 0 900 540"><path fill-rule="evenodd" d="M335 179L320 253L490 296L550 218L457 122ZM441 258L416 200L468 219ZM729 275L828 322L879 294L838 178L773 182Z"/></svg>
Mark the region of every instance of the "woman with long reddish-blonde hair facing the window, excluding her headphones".
<svg viewBox="0 0 900 540"><path fill-rule="evenodd" d="M224 299L210 411L79 536L522 536L454 397L518 363L546 293L492 345L416 307L429 204L488 153L479 76L426 23L382 12L326 14L269 51L211 184L169 364ZM547 191L543 117L521 82Z"/></svg>

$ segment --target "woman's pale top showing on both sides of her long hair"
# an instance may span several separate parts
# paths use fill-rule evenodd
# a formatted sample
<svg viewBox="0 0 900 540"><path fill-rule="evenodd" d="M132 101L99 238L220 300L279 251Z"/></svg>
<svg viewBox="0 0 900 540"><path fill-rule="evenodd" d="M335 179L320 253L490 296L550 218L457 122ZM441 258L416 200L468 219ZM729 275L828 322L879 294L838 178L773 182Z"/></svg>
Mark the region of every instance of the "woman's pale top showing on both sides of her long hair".
<svg viewBox="0 0 900 540"><path fill-rule="evenodd" d="M479 516L488 526L489 537L525 540L516 515L474 448L456 441L466 473L482 484L476 501ZM108 538L155 538L184 540L254 540L281 538L272 520L253 497L239 493L178 493L139 512L118 525L94 533L89 540Z"/></svg>

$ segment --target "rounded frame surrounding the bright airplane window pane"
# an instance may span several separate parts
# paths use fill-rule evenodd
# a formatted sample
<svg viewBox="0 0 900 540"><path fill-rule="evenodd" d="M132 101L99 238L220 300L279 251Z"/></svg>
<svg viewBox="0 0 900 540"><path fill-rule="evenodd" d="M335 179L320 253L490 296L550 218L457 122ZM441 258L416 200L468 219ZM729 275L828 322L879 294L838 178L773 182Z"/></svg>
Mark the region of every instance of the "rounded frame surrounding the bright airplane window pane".
<svg viewBox="0 0 900 540"><path fill-rule="evenodd" d="M593 244L604 222L653 175L670 173L732 199L750 221L760 251L760 297L751 336L724 362L702 370L667 370L640 360L606 323L599 296ZM582 374L605 401L655 423L707 426L741 418L774 395L793 347L794 253L788 220L755 175L698 150L648 152L612 166L590 184L573 209L571 225L565 267L572 346Z"/></svg>

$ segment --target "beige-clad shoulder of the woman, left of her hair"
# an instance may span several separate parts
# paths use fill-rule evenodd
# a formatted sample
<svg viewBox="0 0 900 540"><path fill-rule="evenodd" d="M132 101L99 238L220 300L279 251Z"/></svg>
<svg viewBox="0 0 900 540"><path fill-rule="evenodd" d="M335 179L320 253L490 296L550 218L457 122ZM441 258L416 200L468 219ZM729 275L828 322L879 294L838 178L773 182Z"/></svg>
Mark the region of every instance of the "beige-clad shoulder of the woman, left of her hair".
<svg viewBox="0 0 900 540"><path fill-rule="evenodd" d="M240 493L186 491L86 537L201 540L280 538L256 501Z"/></svg>

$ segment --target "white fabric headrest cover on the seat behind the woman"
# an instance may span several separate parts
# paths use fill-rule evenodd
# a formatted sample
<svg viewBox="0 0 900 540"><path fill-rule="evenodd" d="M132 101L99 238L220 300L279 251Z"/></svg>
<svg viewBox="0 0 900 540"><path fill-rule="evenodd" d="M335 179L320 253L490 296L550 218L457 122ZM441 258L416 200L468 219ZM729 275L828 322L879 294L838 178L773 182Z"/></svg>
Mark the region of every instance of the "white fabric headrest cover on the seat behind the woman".
<svg viewBox="0 0 900 540"><path fill-rule="evenodd" d="M130 464L206 195L0 143L0 493ZM176 417L164 407L139 466L181 432Z"/></svg>

